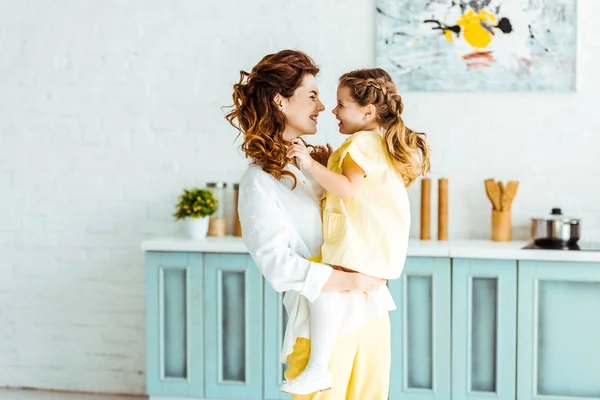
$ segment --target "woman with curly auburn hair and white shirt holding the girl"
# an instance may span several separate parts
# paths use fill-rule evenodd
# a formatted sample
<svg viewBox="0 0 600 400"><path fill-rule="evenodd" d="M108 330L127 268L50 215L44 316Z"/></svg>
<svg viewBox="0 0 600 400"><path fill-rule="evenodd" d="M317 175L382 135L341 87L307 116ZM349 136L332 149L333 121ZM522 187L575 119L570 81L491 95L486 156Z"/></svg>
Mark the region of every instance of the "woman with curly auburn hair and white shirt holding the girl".
<svg viewBox="0 0 600 400"><path fill-rule="evenodd" d="M322 291L347 292L341 318L346 334L337 339L329 362L332 390L292 398L386 400L389 318L387 311L366 307L364 295L382 282L315 262L322 244L322 189L286 158L292 140L317 131L325 109L318 72L304 53L284 50L265 56L250 73L242 71L234 85L227 119L243 135L242 150L252 161L240 182L243 240L273 289L286 292L289 322L281 351L286 378L300 374L310 355L308 301Z"/></svg>

